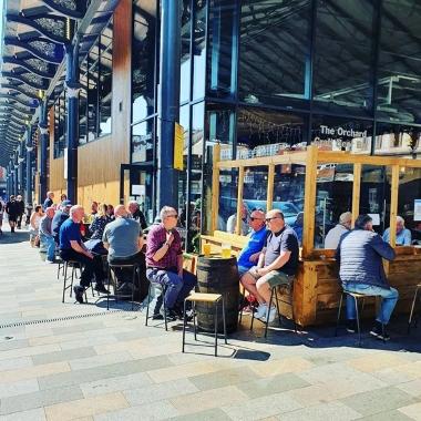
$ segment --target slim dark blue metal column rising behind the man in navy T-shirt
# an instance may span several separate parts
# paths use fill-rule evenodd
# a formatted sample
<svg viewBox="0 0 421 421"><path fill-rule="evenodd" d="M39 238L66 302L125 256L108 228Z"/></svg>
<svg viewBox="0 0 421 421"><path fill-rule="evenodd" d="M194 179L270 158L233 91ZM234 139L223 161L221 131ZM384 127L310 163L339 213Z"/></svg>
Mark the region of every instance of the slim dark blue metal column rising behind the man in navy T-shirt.
<svg viewBox="0 0 421 421"><path fill-rule="evenodd" d="M68 147L68 198L78 203L78 143L79 143L79 82L78 82L78 57L79 42L73 47L65 47L65 92L66 92L66 147ZM65 165L65 164L64 164Z"/></svg>

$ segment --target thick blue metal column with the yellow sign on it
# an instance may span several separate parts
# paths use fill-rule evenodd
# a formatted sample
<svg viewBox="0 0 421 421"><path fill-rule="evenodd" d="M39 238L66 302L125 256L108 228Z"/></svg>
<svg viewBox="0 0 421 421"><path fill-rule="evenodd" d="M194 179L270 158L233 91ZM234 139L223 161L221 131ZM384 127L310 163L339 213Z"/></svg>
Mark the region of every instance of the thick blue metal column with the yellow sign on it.
<svg viewBox="0 0 421 421"><path fill-rule="evenodd" d="M179 120L181 2L162 0L161 86L157 145L157 209L177 207L177 173L174 170L174 130ZM161 101L160 101L161 100Z"/></svg>

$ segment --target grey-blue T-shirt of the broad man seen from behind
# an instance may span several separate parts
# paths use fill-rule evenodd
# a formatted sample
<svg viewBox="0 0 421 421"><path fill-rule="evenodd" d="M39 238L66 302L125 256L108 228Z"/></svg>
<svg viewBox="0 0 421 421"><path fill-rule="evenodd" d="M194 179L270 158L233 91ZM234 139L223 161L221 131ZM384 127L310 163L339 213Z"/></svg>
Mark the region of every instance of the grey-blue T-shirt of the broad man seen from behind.
<svg viewBox="0 0 421 421"><path fill-rule="evenodd" d="M138 222L131 218L116 218L107 224L102 236L110 244L109 257L129 257L138 251L138 237L142 235Z"/></svg>

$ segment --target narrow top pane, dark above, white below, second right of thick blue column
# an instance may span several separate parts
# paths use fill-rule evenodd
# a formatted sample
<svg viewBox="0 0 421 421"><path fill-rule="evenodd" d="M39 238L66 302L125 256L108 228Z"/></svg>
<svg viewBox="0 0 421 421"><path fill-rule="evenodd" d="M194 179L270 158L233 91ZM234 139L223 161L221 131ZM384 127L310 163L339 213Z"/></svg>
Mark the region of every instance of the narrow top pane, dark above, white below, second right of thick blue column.
<svg viewBox="0 0 421 421"><path fill-rule="evenodd" d="M194 81L193 100L205 96L206 70L206 0L195 0L195 21L193 38Z"/></svg>

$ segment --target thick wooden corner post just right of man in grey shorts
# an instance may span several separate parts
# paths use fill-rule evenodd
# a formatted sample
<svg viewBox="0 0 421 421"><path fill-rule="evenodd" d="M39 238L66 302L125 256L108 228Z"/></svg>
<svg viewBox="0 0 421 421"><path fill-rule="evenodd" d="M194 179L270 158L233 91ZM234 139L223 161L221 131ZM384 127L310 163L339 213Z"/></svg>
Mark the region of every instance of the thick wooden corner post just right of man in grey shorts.
<svg viewBox="0 0 421 421"><path fill-rule="evenodd" d="M302 257L309 257L315 247L315 208L317 187L317 146L307 147L304 192Z"/></svg>

